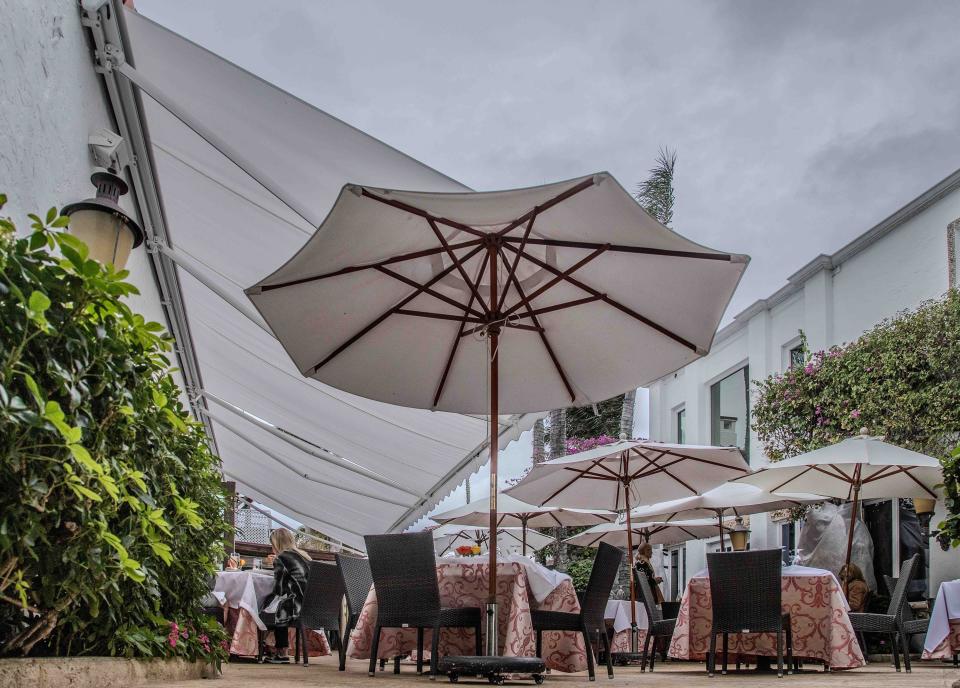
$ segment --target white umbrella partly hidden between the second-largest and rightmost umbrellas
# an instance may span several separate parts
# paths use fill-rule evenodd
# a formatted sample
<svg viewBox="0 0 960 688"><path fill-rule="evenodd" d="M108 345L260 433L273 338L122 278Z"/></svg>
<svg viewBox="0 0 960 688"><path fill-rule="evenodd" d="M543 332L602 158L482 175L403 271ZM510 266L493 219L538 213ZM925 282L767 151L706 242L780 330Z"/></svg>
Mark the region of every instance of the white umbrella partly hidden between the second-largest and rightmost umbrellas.
<svg viewBox="0 0 960 688"><path fill-rule="evenodd" d="M774 495L753 485L736 482L724 483L701 495L639 507L631 515L639 521L716 518L720 527L720 548L723 549L725 514L748 516L822 501L823 497L815 494Z"/></svg>

